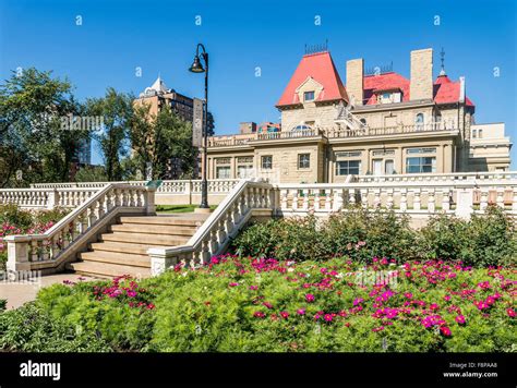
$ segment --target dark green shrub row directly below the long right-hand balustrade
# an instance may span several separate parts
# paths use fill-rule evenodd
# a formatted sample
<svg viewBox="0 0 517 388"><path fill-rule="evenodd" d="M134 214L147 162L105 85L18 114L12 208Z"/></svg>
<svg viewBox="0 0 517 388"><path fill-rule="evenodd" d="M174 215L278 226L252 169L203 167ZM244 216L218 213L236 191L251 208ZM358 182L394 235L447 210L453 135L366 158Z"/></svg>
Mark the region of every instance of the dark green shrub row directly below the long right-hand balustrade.
<svg viewBox="0 0 517 388"><path fill-rule="evenodd" d="M460 259L486 267L516 263L517 233L496 206L470 221L440 215L421 230L394 211L349 208L328 220L315 217L285 218L248 227L233 242L240 255L279 259L324 259L347 255L354 262L373 257L398 263L414 258Z"/></svg>

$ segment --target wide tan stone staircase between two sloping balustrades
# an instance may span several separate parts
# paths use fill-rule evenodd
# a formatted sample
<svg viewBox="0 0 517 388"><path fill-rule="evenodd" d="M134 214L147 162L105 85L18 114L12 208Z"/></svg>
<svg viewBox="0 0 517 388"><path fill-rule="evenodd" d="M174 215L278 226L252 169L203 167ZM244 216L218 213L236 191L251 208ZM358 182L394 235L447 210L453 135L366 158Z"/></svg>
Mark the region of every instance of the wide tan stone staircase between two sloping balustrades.
<svg viewBox="0 0 517 388"><path fill-rule="evenodd" d="M88 251L77 255L79 260L67 268L76 274L98 278L130 275L151 276L147 250L155 246L182 245L195 233L209 215L158 215L120 217Z"/></svg>

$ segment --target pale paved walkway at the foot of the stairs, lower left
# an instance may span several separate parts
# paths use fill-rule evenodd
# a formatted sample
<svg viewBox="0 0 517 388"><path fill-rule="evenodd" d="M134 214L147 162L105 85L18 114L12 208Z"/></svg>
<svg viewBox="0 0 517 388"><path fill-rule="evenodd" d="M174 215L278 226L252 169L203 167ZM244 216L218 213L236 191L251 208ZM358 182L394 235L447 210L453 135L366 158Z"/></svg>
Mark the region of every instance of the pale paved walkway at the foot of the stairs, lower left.
<svg viewBox="0 0 517 388"><path fill-rule="evenodd" d="M88 280L98 280L94 278L81 277L75 274L56 274L43 276L38 279L35 279L34 282L3 282L0 281L0 299L8 300L8 310L17 308L26 302L34 301L38 291L50 284L62 283L64 280L70 280L73 282L79 282L79 278L83 281Z"/></svg>

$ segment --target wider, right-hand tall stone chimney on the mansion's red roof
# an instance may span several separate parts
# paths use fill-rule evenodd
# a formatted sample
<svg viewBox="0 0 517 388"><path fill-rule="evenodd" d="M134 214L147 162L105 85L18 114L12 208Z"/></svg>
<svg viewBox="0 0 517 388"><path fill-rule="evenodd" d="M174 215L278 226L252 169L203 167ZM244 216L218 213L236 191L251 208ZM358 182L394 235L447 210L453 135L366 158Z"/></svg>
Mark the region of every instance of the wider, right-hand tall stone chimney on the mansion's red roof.
<svg viewBox="0 0 517 388"><path fill-rule="evenodd" d="M411 51L409 98L433 99L433 49Z"/></svg>

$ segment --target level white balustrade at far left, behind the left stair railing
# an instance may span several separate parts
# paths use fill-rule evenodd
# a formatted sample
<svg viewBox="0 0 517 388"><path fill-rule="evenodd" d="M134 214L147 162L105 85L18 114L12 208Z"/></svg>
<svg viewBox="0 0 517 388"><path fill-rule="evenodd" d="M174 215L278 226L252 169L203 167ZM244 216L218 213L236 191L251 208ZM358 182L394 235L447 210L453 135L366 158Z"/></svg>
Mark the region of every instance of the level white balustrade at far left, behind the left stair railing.
<svg viewBox="0 0 517 388"><path fill-rule="evenodd" d="M77 207L96 193L101 186L52 187L52 189L2 189L0 204L14 204L22 208L52 209L59 207Z"/></svg>

